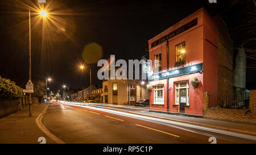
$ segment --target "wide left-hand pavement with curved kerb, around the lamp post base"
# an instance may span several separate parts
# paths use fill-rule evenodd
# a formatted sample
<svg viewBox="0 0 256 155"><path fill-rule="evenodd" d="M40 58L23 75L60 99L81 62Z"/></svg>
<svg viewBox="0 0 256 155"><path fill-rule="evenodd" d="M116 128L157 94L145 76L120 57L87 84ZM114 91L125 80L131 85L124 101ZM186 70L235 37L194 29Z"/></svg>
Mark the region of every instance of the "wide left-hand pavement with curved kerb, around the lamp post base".
<svg viewBox="0 0 256 155"><path fill-rule="evenodd" d="M39 144L38 138L45 137L46 143L55 143L36 125L36 118L48 103L33 104L32 116L28 108L0 119L0 144Z"/></svg>

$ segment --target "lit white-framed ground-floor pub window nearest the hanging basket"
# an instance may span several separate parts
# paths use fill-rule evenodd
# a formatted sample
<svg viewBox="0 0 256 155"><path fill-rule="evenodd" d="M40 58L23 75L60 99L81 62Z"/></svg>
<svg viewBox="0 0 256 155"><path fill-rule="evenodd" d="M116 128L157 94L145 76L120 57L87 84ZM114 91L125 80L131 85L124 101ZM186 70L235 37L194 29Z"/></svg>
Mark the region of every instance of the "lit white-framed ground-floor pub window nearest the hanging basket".
<svg viewBox="0 0 256 155"><path fill-rule="evenodd" d="M185 103L187 106L189 105L188 88L188 81L175 83L175 104Z"/></svg>

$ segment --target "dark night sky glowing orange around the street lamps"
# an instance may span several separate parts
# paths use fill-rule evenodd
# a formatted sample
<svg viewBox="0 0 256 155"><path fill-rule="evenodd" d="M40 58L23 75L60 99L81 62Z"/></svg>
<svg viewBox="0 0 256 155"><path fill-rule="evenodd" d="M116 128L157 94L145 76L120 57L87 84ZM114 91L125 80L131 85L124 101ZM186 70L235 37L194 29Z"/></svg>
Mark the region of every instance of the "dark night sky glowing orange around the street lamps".
<svg viewBox="0 0 256 155"><path fill-rule="evenodd" d="M147 40L201 7L211 15L220 14L230 28L236 19L223 1L46 1L59 26L44 29L47 35L43 35L43 21L32 20L37 13L31 11L32 81L52 77L53 91L63 84L75 89L89 85L89 69L77 69L87 63L82 57L86 45L97 45L97 52L102 49L101 58L140 59L147 54ZM24 2L38 5L36 0ZM2 0L0 5L0 76L24 87L28 80L28 9L12 0ZM92 68L92 83L100 86L97 64L87 66Z"/></svg>

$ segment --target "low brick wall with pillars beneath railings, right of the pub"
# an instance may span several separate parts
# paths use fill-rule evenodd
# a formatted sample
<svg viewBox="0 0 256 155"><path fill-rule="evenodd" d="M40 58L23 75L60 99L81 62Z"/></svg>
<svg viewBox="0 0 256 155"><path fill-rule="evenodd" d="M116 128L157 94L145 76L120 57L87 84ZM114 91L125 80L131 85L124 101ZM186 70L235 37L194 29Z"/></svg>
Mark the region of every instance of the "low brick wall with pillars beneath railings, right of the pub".
<svg viewBox="0 0 256 155"><path fill-rule="evenodd" d="M250 90L250 111L208 107L209 93L204 92L203 118L228 122L256 124L256 90Z"/></svg>

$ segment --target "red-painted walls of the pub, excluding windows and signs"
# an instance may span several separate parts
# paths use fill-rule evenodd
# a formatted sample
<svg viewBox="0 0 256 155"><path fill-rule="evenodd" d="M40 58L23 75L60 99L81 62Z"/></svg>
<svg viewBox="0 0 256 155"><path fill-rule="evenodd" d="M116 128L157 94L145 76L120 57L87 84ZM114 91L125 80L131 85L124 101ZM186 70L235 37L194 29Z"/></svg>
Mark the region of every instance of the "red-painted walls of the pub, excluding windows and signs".
<svg viewBox="0 0 256 155"><path fill-rule="evenodd" d="M200 85L197 88L189 86L189 106L185 107L185 114L190 115L203 115L203 92L208 90L211 92L217 91L217 48L212 44L217 44L217 27L214 26L212 17L204 10L200 9L194 14L189 15L187 18L181 20L171 28L168 28L160 35L154 37L148 41L148 48L150 52L150 59L154 64L154 55L162 53L162 72L167 68L167 57L166 57L166 42L159 44L156 47L151 48L151 43L160 37L167 35L168 33L176 30L191 20L197 18L197 25L190 28L189 30L180 33L179 35L172 37L168 40L169 42L169 69L178 69L184 66L200 64L203 62L203 73L188 74L179 77L173 77L169 79L170 90L167 88L167 79L161 79L158 81L151 81L150 85L164 85L164 105L154 104L154 89L150 92L150 110L151 111L162 111L167 112L167 92L169 93L169 112L178 113L179 105L175 104L175 82L188 81L189 83L193 78L199 79ZM204 40L207 38L209 41ZM176 62L176 45L185 41L185 61L184 66L174 67ZM153 66L154 67L154 66ZM152 68L152 71L154 68Z"/></svg>

